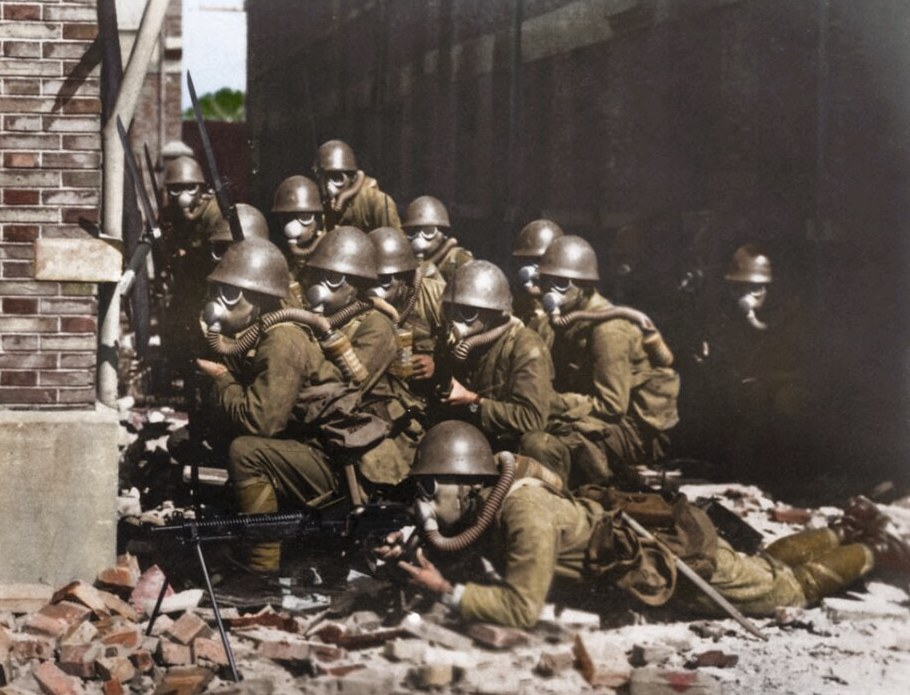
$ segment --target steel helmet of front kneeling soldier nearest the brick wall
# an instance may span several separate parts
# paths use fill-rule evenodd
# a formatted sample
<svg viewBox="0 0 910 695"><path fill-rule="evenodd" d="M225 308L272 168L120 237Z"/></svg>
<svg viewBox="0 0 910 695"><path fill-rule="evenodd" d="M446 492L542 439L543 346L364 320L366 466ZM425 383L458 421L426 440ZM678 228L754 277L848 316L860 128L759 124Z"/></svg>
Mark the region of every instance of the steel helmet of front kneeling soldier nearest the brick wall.
<svg viewBox="0 0 910 695"><path fill-rule="evenodd" d="M244 239L228 247L208 281L284 298L288 295L288 262L272 242Z"/></svg>

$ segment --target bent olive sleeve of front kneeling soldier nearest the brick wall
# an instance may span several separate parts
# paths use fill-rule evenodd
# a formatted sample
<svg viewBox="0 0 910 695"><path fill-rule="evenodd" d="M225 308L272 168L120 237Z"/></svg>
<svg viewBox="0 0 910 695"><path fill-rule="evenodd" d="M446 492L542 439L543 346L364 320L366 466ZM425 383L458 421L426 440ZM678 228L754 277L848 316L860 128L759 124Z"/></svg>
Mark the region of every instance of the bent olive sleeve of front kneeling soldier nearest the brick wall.
<svg viewBox="0 0 910 695"><path fill-rule="evenodd" d="M274 437L287 427L306 368L305 338L298 333L291 326L266 333L244 379L248 386L231 372L215 379L215 402L235 432Z"/></svg>

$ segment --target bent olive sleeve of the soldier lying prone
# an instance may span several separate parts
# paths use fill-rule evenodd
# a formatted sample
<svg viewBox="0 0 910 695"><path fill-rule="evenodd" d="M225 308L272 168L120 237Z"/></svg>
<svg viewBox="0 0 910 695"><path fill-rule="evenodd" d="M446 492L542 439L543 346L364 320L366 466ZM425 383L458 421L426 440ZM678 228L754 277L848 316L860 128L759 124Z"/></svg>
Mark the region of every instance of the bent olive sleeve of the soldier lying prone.
<svg viewBox="0 0 910 695"><path fill-rule="evenodd" d="M507 498L497 531L505 570L496 585L465 585L459 610L466 620L533 627L556 571L558 529L529 499Z"/></svg>

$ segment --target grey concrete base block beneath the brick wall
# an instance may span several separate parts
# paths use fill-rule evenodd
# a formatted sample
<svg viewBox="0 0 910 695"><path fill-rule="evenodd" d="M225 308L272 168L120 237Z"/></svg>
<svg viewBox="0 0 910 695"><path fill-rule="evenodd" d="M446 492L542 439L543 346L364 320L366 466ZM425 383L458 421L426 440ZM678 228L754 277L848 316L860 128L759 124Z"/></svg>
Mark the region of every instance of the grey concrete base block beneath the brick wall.
<svg viewBox="0 0 910 695"><path fill-rule="evenodd" d="M117 545L117 411L0 410L0 583L93 581Z"/></svg>

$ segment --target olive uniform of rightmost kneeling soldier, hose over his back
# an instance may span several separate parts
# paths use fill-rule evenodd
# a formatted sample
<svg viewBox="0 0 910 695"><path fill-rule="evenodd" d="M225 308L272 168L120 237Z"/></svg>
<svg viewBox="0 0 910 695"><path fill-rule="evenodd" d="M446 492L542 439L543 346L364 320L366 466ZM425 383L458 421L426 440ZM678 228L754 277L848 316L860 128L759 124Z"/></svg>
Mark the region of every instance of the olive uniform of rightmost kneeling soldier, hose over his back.
<svg viewBox="0 0 910 695"><path fill-rule="evenodd" d="M594 292L579 310L612 306ZM679 376L651 363L640 328L624 318L580 319L551 335L559 403L547 431L523 439L522 453L558 472L571 488L659 460L665 433L679 420Z"/></svg>

